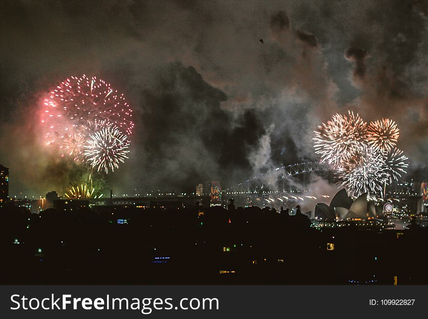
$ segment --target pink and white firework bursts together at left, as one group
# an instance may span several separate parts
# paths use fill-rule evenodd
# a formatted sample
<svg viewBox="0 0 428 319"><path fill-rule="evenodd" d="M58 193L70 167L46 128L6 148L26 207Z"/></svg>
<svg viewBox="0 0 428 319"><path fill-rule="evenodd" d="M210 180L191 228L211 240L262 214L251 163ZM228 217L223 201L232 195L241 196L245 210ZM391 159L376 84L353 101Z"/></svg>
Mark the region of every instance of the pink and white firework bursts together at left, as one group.
<svg viewBox="0 0 428 319"><path fill-rule="evenodd" d="M74 77L61 82L44 99L41 123L47 145L61 156L106 174L119 168L129 152L134 123L123 94L97 77Z"/></svg>

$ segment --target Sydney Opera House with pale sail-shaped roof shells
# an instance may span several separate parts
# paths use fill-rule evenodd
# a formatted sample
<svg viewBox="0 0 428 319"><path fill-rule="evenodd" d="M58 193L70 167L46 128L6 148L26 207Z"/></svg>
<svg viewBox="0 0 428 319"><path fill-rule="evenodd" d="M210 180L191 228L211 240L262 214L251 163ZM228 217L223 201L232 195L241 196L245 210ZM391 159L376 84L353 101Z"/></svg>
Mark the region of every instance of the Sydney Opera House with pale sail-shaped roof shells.
<svg viewBox="0 0 428 319"><path fill-rule="evenodd" d="M329 222L382 218L383 207L375 201L368 201L367 194L362 194L353 201L346 193L346 190L341 189L333 197L330 205L317 203L314 217L315 219Z"/></svg>

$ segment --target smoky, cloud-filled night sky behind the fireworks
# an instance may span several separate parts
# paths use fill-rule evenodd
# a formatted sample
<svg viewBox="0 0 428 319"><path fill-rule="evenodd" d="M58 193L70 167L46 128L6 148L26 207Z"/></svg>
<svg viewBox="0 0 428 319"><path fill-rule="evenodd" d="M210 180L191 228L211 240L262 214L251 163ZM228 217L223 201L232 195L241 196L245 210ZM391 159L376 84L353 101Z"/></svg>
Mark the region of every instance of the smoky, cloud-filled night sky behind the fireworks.
<svg viewBox="0 0 428 319"><path fill-rule="evenodd" d="M333 114L391 118L410 174L427 175L428 1L0 3L0 164L10 194L68 186L43 146L40 99L96 75L134 110L115 192L224 186L317 160ZM263 39L260 41L259 39Z"/></svg>

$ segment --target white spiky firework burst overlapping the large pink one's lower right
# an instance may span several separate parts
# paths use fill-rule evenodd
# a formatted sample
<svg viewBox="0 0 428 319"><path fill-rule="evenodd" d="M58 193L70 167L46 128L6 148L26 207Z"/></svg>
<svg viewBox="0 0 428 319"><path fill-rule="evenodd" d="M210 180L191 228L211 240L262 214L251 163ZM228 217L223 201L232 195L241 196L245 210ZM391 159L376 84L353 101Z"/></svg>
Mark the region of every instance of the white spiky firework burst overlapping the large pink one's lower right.
<svg viewBox="0 0 428 319"><path fill-rule="evenodd" d="M85 157L90 166L97 171L103 170L106 174L119 163L124 163L129 153L127 136L122 134L116 126L107 125L90 135L88 145L85 146Z"/></svg>

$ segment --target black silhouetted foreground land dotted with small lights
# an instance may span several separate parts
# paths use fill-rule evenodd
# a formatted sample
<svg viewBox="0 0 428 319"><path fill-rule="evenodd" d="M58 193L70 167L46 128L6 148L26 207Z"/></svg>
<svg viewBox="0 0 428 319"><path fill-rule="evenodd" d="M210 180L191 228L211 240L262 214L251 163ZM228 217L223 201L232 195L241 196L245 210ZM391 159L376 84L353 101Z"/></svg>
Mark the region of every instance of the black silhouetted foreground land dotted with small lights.
<svg viewBox="0 0 428 319"><path fill-rule="evenodd" d="M426 230L316 230L232 205L3 209L1 283L428 284Z"/></svg>

